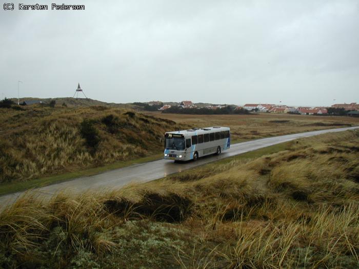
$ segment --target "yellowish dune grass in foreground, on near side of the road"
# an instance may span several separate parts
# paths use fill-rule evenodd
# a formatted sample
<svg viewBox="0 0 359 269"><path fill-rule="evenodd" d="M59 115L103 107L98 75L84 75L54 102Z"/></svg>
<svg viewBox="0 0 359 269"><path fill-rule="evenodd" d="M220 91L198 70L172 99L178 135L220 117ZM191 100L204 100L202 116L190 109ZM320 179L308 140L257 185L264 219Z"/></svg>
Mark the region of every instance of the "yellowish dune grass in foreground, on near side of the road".
<svg viewBox="0 0 359 269"><path fill-rule="evenodd" d="M331 133L118 190L23 195L0 213L0 266L359 268L358 144Z"/></svg>

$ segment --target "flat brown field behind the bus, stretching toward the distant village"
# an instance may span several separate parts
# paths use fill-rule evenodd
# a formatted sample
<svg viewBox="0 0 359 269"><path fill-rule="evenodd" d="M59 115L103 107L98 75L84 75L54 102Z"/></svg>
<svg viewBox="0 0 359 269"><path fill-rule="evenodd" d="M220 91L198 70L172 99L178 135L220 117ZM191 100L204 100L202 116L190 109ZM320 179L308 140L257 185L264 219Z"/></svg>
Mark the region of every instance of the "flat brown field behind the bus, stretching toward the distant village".
<svg viewBox="0 0 359 269"><path fill-rule="evenodd" d="M144 112L191 127L226 126L231 128L232 142L269 136L302 133L322 129L359 125L359 118L261 113L253 115L188 115ZM174 131L174 130L168 130Z"/></svg>

